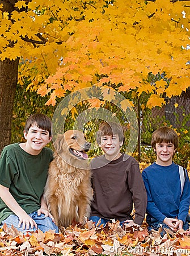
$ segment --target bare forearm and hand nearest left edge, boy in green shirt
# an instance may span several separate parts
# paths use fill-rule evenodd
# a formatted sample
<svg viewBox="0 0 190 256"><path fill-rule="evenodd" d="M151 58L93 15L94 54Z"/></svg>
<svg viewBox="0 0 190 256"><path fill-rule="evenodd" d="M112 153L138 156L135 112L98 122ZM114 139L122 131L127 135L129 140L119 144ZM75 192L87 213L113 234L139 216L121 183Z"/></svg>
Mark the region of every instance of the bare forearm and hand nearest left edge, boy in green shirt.
<svg viewBox="0 0 190 256"><path fill-rule="evenodd" d="M14 197L11 195L9 188L4 187L0 184L0 197L3 202L9 207L12 212L19 218L19 227L23 224L23 229L29 229L29 226L37 228L37 224L31 217L23 210L20 205L16 202Z"/></svg>

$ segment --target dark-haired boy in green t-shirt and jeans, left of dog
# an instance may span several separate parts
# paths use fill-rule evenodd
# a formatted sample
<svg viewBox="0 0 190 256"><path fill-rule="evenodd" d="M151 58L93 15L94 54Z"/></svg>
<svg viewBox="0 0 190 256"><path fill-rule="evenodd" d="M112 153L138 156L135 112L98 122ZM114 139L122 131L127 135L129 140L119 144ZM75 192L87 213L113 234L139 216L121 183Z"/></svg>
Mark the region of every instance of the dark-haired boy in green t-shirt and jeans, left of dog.
<svg viewBox="0 0 190 256"><path fill-rule="evenodd" d="M26 232L49 229L58 232L43 198L53 151L45 147L52 139L52 122L33 114L24 128L24 143L3 148L0 158L0 227L14 225Z"/></svg>

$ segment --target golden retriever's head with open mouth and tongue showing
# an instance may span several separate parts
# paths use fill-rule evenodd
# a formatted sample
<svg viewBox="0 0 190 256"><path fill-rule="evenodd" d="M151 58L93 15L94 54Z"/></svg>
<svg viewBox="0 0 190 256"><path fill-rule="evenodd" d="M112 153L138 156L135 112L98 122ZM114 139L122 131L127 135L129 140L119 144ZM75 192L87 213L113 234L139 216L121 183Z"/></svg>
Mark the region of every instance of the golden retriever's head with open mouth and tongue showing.
<svg viewBox="0 0 190 256"><path fill-rule="evenodd" d="M69 130L64 134L59 134L54 142L58 154L67 155L69 153L77 159L87 159L86 152L90 150L90 146L85 135L78 130Z"/></svg>

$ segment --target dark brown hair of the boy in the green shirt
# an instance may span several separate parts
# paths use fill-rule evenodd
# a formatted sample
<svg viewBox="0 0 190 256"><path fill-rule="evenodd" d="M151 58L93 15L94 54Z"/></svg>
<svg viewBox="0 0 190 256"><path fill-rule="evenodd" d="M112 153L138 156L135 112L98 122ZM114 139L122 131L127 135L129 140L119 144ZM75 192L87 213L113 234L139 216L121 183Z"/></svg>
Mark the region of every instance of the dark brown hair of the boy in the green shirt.
<svg viewBox="0 0 190 256"><path fill-rule="evenodd" d="M36 113L28 117L26 125L24 127L24 131L28 133L29 128L33 125L36 125L37 127L39 127L39 129L48 131L49 138L52 137L52 121L49 117L47 117L47 115Z"/></svg>

